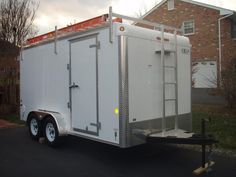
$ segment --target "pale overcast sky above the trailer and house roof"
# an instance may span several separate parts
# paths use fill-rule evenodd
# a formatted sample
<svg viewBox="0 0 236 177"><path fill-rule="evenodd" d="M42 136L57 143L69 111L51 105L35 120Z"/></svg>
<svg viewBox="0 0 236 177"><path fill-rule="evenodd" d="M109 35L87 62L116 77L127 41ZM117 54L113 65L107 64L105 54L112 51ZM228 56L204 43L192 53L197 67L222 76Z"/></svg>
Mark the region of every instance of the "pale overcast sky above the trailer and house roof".
<svg viewBox="0 0 236 177"><path fill-rule="evenodd" d="M151 9L161 0L38 0L40 2L35 25L39 34L113 11L129 16ZM227 9L236 10L236 0L196 0Z"/></svg>

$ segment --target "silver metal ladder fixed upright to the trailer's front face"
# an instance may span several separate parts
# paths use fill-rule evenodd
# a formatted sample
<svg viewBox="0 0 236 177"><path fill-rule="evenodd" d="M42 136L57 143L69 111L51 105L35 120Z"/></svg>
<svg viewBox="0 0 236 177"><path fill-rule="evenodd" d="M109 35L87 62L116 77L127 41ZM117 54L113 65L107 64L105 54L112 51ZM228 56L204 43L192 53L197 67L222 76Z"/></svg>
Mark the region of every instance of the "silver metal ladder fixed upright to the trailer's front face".
<svg viewBox="0 0 236 177"><path fill-rule="evenodd" d="M164 26L161 27L161 63L162 63L162 83L163 83L163 115L162 115L162 135L166 132L166 103L174 102L174 118L175 118L175 130L178 129L178 63L177 63L177 31L174 30L174 49L166 50L164 44ZM174 65L166 65L165 54L174 54ZM166 81L166 70L174 70L174 81ZM173 85L174 87L174 98L166 97L166 86Z"/></svg>

